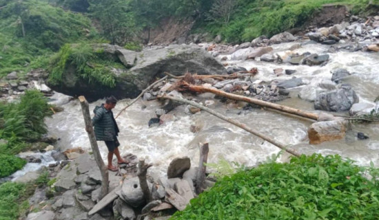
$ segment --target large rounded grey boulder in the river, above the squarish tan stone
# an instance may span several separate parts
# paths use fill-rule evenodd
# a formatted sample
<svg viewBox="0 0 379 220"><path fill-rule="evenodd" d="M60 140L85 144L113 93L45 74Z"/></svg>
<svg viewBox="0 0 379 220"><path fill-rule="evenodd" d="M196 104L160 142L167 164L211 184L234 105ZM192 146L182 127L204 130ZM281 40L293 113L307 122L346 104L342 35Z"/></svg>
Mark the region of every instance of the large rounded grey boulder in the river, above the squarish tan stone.
<svg viewBox="0 0 379 220"><path fill-rule="evenodd" d="M334 91L318 94L314 108L325 111L348 111L359 98L349 84L341 84Z"/></svg>

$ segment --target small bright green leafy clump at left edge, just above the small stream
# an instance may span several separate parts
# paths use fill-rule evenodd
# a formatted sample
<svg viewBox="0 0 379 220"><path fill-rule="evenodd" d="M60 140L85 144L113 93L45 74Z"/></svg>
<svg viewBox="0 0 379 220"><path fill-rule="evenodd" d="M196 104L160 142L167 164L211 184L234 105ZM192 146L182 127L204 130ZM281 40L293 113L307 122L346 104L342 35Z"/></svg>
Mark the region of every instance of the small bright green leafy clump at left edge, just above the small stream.
<svg viewBox="0 0 379 220"><path fill-rule="evenodd" d="M8 177L25 166L25 159L14 155L0 154L0 177Z"/></svg>

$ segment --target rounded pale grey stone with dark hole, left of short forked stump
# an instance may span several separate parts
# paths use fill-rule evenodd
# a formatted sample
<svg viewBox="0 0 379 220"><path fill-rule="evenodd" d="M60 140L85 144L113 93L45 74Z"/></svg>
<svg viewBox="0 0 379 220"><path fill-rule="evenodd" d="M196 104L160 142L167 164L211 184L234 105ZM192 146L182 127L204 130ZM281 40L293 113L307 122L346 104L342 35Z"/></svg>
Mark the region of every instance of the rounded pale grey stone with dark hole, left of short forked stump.
<svg viewBox="0 0 379 220"><path fill-rule="evenodd" d="M147 184L149 188L152 188L152 184ZM141 206L141 204L145 202L138 177L125 179L121 187L121 192L117 192L117 194L123 201L133 207Z"/></svg>

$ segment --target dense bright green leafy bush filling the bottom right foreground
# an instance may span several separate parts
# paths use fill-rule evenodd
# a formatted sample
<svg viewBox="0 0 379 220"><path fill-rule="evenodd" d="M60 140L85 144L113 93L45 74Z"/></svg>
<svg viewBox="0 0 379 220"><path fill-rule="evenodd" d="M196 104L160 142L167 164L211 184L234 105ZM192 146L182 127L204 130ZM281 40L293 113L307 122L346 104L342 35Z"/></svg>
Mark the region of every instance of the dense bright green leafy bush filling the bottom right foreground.
<svg viewBox="0 0 379 220"><path fill-rule="evenodd" d="M377 219L378 174L372 163L302 155L224 177L172 219Z"/></svg>

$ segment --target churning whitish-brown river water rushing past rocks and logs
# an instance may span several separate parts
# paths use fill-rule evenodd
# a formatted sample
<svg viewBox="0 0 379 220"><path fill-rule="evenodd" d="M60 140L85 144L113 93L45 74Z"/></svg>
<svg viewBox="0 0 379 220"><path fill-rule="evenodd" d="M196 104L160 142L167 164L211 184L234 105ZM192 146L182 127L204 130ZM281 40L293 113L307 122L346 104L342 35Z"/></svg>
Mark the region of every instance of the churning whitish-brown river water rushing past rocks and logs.
<svg viewBox="0 0 379 220"><path fill-rule="evenodd" d="M285 51L294 43L283 43L274 45L274 52ZM325 54L329 49L326 45L304 45L296 52L312 52ZM354 90L360 97L360 102L370 102L379 95L379 77L377 68L379 67L379 54L367 52L336 52L331 53L330 61L325 66L309 67L305 65L290 65L265 63L260 61L226 61L229 65L238 65L246 69L257 67L259 74L256 78L265 81L276 79L288 79L296 76L303 78L309 85L317 85L322 79L331 78L331 71L336 68L345 68L354 73L344 80L351 83ZM222 56L220 56L222 57ZM291 76L283 75L277 77L273 73L275 68L296 69L296 73ZM307 86L307 85L305 85ZM303 87L305 87L303 86ZM314 111L313 103L301 100L298 94L302 87L291 89L291 98L284 100L280 104L289 107L296 107L307 111ZM59 98L61 100L61 98ZM101 104L101 100L90 104L90 111L95 105ZM126 106L130 100L121 100L113 110L115 115ZM60 138L59 147L62 149L81 146L90 151L88 135L84 129L83 115L78 100L62 105L65 111L57 113L52 118L46 119L50 133ZM158 101L139 100L131 107L127 108L116 121L119 124L121 133L121 153L133 153L138 157L146 157L147 162L152 162L154 167L150 172L161 175L166 172L168 164L175 157L188 156L192 164L198 164L199 143L209 142L208 161L216 163L221 158L229 162L254 166L258 162L263 162L267 156L278 153L276 146L269 144L247 131L233 126L223 120L215 118L206 112L192 115L186 110L186 106L177 107L171 113L175 115L175 120L167 122L161 126L149 128L147 122L150 118L155 118L155 109L160 108ZM376 124L353 124L351 131L343 140L325 142L318 145L308 144L307 129L311 121L294 118L288 115L265 111L262 109L238 110L228 109L220 102L209 106L218 111L244 122L283 144L288 144L300 153L322 153L340 154L343 157L350 157L358 164L367 165L369 162L379 164L379 126ZM314 111L317 112L317 111ZM202 126L199 133L192 133L189 127L192 124ZM369 135L367 140L357 140L357 132ZM103 142L98 142L101 155L105 159L107 148ZM284 160L284 157L282 158Z"/></svg>

